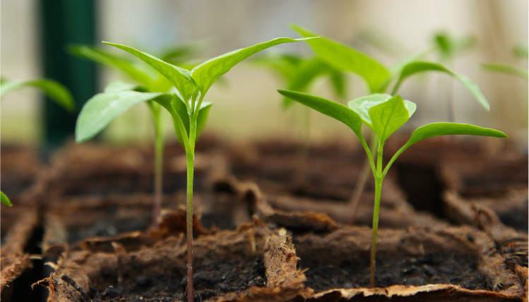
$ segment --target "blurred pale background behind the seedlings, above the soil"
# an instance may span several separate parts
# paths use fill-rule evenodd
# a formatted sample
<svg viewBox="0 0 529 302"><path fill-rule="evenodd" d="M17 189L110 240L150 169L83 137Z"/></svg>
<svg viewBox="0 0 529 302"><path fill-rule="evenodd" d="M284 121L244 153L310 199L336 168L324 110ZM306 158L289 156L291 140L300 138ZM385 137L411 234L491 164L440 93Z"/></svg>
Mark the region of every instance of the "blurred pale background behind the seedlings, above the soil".
<svg viewBox="0 0 529 302"><path fill-rule="evenodd" d="M67 54L68 44L91 44L121 54L100 43L104 40L157 54L178 44L198 43L201 52L193 59L200 63L275 37L298 37L290 29L296 23L392 66L430 49L436 33L468 37L471 46L449 65L480 86L491 111L483 110L463 85L447 75L425 73L405 82L400 90L405 99L417 103L410 126L446 121L448 113L441 99L453 97L455 121L497 128L527 148L528 81L484 71L480 64L501 63L527 71L527 58L516 56L514 49L527 47L528 1L2 0L0 9L2 77L59 80L72 90L78 109L119 74ZM280 45L263 54L280 52L312 54L304 43ZM439 61L439 56L432 54L427 59ZM276 92L285 84L273 71L246 61L222 79L206 96L213 107L205 131L231 141L296 137L292 112L283 111ZM347 76L345 99L336 97L326 81L315 83L311 93L340 102L368 93L364 82L352 74ZM53 140L49 133L54 129L66 137L73 133L76 114L64 117L66 111L43 98L37 90L25 89L1 100L2 143L40 145ZM102 140L150 143L153 129L145 109L136 105L120 116ZM311 115L312 140L354 141L343 124L321 114ZM175 139L172 131L166 132L168 139Z"/></svg>

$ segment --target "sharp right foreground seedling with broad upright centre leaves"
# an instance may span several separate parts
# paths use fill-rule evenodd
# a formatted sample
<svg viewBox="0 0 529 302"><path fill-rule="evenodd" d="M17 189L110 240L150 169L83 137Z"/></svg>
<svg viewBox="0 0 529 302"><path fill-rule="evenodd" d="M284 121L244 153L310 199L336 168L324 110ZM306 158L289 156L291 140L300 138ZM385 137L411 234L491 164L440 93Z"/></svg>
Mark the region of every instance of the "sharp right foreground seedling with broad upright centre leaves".
<svg viewBox="0 0 529 302"><path fill-rule="evenodd" d="M382 183L388 174L388 170L395 160L408 147L425 138L432 138L439 135L482 135L496 138L506 138L507 135L501 131L489 128L482 128L466 123L429 123L413 131L410 139L401 147L384 167L382 162L384 155L384 145L391 134L398 130L410 119L415 112L417 105L408 100L403 100L400 95L392 97L386 94L374 94L367 97L360 97L349 102L349 107L332 102L328 99L307 95L302 92L290 90L278 90L283 96L304 104L316 111L331 116L333 119L345 123L357 135L362 147L364 147L369 165L375 181L375 198L372 227L371 246L371 275L369 284L375 286L375 260L376 260L376 234L379 227L379 210L382 192ZM367 145L364 135L362 135L362 124L372 130L376 138L376 149L372 150Z"/></svg>

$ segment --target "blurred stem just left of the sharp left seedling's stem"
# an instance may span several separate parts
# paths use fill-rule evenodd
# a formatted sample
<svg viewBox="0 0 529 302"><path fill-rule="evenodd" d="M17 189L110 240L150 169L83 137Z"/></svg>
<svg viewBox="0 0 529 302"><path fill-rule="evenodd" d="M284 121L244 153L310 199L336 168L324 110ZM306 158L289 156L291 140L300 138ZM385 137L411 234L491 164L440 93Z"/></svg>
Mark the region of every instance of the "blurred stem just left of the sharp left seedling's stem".
<svg viewBox="0 0 529 302"><path fill-rule="evenodd" d="M155 157L154 157L154 207L153 228L158 229L158 217L162 210L162 184L163 184L163 119L155 117Z"/></svg>

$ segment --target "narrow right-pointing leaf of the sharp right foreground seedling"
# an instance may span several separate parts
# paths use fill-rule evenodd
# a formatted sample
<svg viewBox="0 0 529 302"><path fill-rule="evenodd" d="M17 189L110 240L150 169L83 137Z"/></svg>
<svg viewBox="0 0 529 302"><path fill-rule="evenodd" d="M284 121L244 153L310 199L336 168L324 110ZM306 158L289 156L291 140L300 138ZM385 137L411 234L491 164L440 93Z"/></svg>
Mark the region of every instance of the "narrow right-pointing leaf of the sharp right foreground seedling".
<svg viewBox="0 0 529 302"><path fill-rule="evenodd" d="M439 135L480 135L492 136L494 138L507 138L507 135L501 131L480 126L470 125L468 123L429 123L413 131L410 140L403 149L410 147L424 138L432 138Z"/></svg>

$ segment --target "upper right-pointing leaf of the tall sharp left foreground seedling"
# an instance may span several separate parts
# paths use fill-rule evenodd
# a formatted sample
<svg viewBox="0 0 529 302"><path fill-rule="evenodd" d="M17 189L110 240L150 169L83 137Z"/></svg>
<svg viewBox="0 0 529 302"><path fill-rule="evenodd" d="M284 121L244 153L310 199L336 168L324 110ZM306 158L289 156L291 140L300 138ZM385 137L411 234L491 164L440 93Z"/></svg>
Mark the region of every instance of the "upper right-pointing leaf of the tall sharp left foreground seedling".
<svg viewBox="0 0 529 302"><path fill-rule="evenodd" d="M307 39L291 39L287 37L280 37L268 42L255 44L251 47L237 49L233 52L222 54L222 56L209 59L203 64L196 66L193 68L193 70L191 70L191 77L195 80L196 84L200 88L202 95L205 95L211 85L215 83L215 80L220 78L221 75L230 71L233 66L239 64L240 61L246 59L252 54L261 52L261 50L267 49L268 47L273 47L274 45L303 40Z"/></svg>

